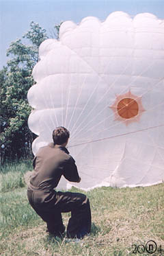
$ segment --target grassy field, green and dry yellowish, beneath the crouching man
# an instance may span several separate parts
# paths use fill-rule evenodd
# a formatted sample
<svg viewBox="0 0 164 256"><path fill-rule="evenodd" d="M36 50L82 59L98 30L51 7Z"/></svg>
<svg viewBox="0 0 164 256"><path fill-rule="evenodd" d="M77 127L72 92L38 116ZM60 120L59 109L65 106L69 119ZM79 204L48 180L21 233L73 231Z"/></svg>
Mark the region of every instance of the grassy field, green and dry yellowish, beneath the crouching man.
<svg viewBox="0 0 164 256"><path fill-rule="evenodd" d="M1 256L164 255L164 183L84 192L91 203L92 233L81 242L68 242L48 235L46 224L29 206L23 179L27 170L31 170L29 161L4 165L1 170ZM69 216L63 214L65 225ZM155 253L148 253L152 242L147 247L146 243L150 240L156 243Z"/></svg>

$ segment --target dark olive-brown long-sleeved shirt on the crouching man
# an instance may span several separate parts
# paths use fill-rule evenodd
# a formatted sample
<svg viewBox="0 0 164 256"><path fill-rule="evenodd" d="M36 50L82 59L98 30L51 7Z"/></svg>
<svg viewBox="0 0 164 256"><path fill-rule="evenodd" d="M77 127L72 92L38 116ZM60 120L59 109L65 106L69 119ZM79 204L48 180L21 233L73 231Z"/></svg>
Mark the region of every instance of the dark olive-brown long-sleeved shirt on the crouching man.
<svg viewBox="0 0 164 256"><path fill-rule="evenodd" d="M33 169L29 182L32 190L54 189L62 175L68 181L79 181L77 165L68 150L53 143L38 150L33 159Z"/></svg>

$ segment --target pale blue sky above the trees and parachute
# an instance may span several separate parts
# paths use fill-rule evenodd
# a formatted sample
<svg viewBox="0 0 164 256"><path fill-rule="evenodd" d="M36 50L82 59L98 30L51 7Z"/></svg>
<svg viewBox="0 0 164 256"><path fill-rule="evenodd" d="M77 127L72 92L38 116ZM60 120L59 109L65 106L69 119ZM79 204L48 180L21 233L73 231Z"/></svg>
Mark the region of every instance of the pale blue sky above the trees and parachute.
<svg viewBox="0 0 164 256"><path fill-rule="evenodd" d="M16 38L21 38L34 21L48 34L61 21L79 23L86 16L104 21L111 12L123 11L131 16L151 12L164 19L164 0L0 0L1 38L0 68L6 64L6 50Z"/></svg>

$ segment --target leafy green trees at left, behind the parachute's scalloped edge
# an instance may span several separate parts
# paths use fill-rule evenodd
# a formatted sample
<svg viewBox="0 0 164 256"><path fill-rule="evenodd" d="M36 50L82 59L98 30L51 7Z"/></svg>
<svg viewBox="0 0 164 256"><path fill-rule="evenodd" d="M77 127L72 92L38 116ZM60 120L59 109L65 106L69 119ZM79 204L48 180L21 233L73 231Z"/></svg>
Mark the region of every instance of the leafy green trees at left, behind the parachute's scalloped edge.
<svg viewBox="0 0 164 256"><path fill-rule="evenodd" d="M31 71L38 61L38 47L48 38L46 30L38 23L30 23L30 30L23 36L26 45L17 39L10 44L7 67L0 71L1 84L1 159L20 159L31 156L34 135L27 127L31 107L27 91L33 85Z"/></svg>

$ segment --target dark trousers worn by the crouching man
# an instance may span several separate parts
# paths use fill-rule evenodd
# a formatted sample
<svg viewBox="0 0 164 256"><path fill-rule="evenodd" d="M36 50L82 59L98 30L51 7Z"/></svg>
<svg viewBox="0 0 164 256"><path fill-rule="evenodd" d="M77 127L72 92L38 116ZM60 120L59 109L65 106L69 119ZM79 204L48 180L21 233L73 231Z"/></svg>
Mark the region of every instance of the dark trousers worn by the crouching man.
<svg viewBox="0 0 164 256"><path fill-rule="evenodd" d="M64 225L61 213L71 212L71 218L68 221L67 236L82 238L91 229L91 211L89 199L81 193L54 191L51 202L46 204L36 204L36 191L27 191L27 196L31 207L47 224L50 233L62 233Z"/></svg>

